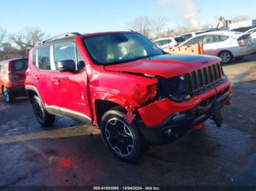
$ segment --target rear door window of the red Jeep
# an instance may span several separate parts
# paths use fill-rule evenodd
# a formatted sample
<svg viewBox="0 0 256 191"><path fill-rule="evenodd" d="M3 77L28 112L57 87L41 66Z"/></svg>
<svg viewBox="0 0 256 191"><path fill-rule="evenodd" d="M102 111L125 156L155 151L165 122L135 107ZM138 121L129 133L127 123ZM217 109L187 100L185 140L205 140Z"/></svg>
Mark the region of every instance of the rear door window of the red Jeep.
<svg viewBox="0 0 256 191"><path fill-rule="evenodd" d="M39 69L50 70L50 47L41 47L37 51Z"/></svg>

